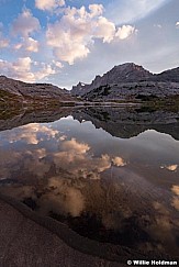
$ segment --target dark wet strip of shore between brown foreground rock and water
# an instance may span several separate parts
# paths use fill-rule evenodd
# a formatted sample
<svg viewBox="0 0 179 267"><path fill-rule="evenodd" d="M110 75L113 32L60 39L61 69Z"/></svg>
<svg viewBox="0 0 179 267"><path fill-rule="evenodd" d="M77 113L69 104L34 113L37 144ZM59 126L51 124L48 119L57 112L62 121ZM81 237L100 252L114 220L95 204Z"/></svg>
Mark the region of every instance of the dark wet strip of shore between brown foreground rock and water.
<svg viewBox="0 0 179 267"><path fill-rule="evenodd" d="M108 266L125 266L125 265L119 265L119 264L126 263L128 256L131 256L131 255L133 255L133 256L136 255L136 256L143 257L141 254L138 254L136 252L135 253L131 252L130 248L114 246L111 244L102 244L102 243L98 243L96 241L82 237L82 236L78 235L76 232L74 232L72 230L68 229L68 226L66 226L65 224L57 222L52 218L38 215L36 212L32 211L30 208L27 208L26 205L16 201L15 199L13 199L11 197L0 194L0 205L1 205L1 209L0 209L1 220L3 219L3 214L2 214L3 205L5 207L5 213L9 213L9 209L13 209L14 212L16 213L14 219L19 218L21 214L22 216L25 218L25 220L30 220L31 222L35 223L36 225L40 225L41 227L44 227L47 231L49 231L52 234L56 235L71 249L76 249L79 253L91 256L92 258L96 258L99 260L102 259L102 260L107 262L105 264L109 264ZM14 219L11 218L11 220L9 220L9 222L11 222L12 224L13 223L15 224ZM5 226L4 226L4 229L5 229ZM8 232L8 231L4 231L4 232ZM2 231L0 232L0 235L2 235ZM3 246L4 244L2 244L2 243L1 243L1 245Z"/></svg>

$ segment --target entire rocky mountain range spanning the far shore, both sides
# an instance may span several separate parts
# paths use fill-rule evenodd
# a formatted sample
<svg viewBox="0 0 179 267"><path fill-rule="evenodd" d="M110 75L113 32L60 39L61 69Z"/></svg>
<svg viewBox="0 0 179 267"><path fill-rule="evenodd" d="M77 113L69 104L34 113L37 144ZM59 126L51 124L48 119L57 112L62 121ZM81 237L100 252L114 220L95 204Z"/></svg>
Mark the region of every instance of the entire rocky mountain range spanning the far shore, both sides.
<svg viewBox="0 0 179 267"><path fill-rule="evenodd" d="M96 76L90 85L79 82L71 91L52 84L30 84L0 76L0 105L59 104L87 101L158 101L179 99L179 67L153 74L143 66L125 63L114 66L102 76Z"/></svg>

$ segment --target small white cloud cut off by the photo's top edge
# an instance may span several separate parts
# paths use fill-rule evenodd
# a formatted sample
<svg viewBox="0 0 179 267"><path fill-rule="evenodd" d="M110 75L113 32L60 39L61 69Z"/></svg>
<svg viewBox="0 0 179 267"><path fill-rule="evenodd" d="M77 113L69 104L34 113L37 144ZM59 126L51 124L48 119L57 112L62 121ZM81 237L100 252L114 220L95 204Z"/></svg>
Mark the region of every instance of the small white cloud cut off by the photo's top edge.
<svg viewBox="0 0 179 267"><path fill-rule="evenodd" d="M64 7L65 0L35 0L35 7L43 11L52 11L58 7Z"/></svg>

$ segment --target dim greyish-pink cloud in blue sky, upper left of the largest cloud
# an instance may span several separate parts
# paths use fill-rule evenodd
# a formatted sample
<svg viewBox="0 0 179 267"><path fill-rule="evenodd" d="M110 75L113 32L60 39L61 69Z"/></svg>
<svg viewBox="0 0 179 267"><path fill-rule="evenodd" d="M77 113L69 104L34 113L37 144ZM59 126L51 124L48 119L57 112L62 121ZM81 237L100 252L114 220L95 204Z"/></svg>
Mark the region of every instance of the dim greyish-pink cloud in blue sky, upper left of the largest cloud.
<svg viewBox="0 0 179 267"><path fill-rule="evenodd" d="M27 9L19 14L18 19L15 19L12 24L12 32L14 34L21 34L24 37L27 37L30 34L38 31L40 29L40 21L33 16Z"/></svg>

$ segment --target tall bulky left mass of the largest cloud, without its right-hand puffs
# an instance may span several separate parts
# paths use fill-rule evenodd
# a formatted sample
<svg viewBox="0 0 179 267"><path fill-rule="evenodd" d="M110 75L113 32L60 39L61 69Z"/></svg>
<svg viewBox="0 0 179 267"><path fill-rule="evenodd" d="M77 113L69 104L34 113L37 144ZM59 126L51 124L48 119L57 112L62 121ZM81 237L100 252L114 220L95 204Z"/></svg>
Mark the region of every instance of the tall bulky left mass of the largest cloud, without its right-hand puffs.
<svg viewBox="0 0 179 267"><path fill-rule="evenodd" d="M91 24L87 21L85 8L68 8L60 21L48 25L47 44L54 48L55 57L71 65L76 58L89 54L90 32Z"/></svg>

